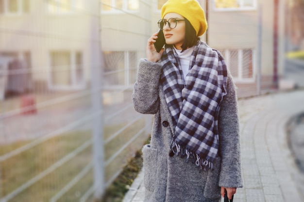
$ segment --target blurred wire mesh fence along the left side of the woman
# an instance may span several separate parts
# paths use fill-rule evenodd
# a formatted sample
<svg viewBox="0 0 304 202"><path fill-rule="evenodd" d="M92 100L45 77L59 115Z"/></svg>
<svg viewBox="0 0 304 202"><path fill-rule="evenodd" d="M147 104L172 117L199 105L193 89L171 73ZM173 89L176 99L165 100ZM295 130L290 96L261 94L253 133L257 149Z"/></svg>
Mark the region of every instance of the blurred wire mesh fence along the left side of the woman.
<svg viewBox="0 0 304 202"><path fill-rule="evenodd" d="M96 185L109 186L147 139L151 120L131 100L137 51L92 51L101 42L100 3L0 1L1 202L100 198ZM100 85L93 66L104 72ZM102 148L100 171L94 147Z"/></svg>

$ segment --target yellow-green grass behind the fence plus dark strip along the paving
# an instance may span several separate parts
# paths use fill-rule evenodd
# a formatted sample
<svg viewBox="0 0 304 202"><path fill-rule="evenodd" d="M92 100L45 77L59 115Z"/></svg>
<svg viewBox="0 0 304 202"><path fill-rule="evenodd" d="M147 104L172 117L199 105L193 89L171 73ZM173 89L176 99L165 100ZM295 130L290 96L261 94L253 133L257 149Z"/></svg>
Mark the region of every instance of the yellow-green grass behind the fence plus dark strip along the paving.
<svg viewBox="0 0 304 202"><path fill-rule="evenodd" d="M106 126L104 129L104 136L109 137L111 134L118 131L119 128L125 124L118 124ZM105 156L113 155L115 148L120 148L123 143L132 138L132 135L139 131L143 125L143 121L139 120L135 124L130 125L122 134L108 142L105 145L107 149ZM39 173L47 170L60 159L74 151L85 141L92 137L91 131L71 131L65 134L51 137L48 140L21 152L13 157L0 162L1 175L1 196L6 196L12 191L16 190L22 184L28 182L30 179L37 176ZM107 188L103 202L119 202L122 201L125 193L128 191L128 185L132 185L138 172L142 168L142 142L145 137L136 139L129 147L122 152L122 156L118 156L113 165L107 166L108 171L105 175L111 175L112 171L119 171L119 169L126 164L123 171L113 184ZM31 140L22 140L10 144L2 144L0 146L0 155L5 155L8 152L14 151L21 146L30 143ZM116 143L116 144L115 144ZM147 142L145 142L147 143ZM136 152L135 152L136 151ZM128 158L126 156L133 155ZM56 193L58 193L64 186L66 186L84 167L89 164L92 159L91 145L85 148L80 154L76 155L68 162L56 168L51 173L47 174L32 186L29 186L23 192L18 194L9 202L42 202L49 201ZM122 160L121 160L122 159ZM128 160L129 159L129 160ZM114 165L119 163L118 165ZM58 202L74 202L79 201L80 197L93 185L93 170L90 170L85 176L73 186L68 192L62 196Z"/></svg>

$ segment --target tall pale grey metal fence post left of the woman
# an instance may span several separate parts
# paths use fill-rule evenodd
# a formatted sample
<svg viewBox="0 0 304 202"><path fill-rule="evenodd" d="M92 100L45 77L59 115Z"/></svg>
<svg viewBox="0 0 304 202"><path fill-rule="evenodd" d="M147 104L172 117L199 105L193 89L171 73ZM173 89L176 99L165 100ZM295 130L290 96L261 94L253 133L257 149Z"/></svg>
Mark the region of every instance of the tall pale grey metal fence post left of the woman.
<svg viewBox="0 0 304 202"><path fill-rule="evenodd" d="M100 1L91 1L94 16L92 16L90 31L90 65L91 65L91 101L92 135L93 135L93 166L94 166L94 200L101 201L104 183L104 145L103 145L103 109L102 109L102 62L100 36Z"/></svg>

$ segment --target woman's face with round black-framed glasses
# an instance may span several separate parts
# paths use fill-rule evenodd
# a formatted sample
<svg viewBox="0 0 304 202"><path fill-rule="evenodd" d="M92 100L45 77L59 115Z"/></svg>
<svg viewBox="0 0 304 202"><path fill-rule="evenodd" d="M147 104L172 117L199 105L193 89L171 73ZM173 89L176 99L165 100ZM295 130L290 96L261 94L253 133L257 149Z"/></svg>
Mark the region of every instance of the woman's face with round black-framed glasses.
<svg viewBox="0 0 304 202"><path fill-rule="evenodd" d="M184 20L185 18L177 13L168 13L164 16L164 20L168 21L170 18L177 20ZM172 24L172 23L171 23ZM172 27L172 25L171 25ZM185 39L186 25L185 21L177 21L176 27L171 29L169 23L163 27L166 44L174 45L175 48L181 50Z"/></svg>

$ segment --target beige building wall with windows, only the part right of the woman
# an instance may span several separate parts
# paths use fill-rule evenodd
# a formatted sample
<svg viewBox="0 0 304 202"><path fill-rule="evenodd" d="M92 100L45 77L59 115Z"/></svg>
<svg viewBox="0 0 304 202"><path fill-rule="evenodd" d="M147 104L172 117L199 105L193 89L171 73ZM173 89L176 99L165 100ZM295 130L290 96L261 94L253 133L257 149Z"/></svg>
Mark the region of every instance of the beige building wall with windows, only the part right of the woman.
<svg viewBox="0 0 304 202"><path fill-rule="evenodd" d="M284 72L284 0L212 0L208 44L223 53L238 91L275 87ZM260 69L260 70L259 70Z"/></svg>

